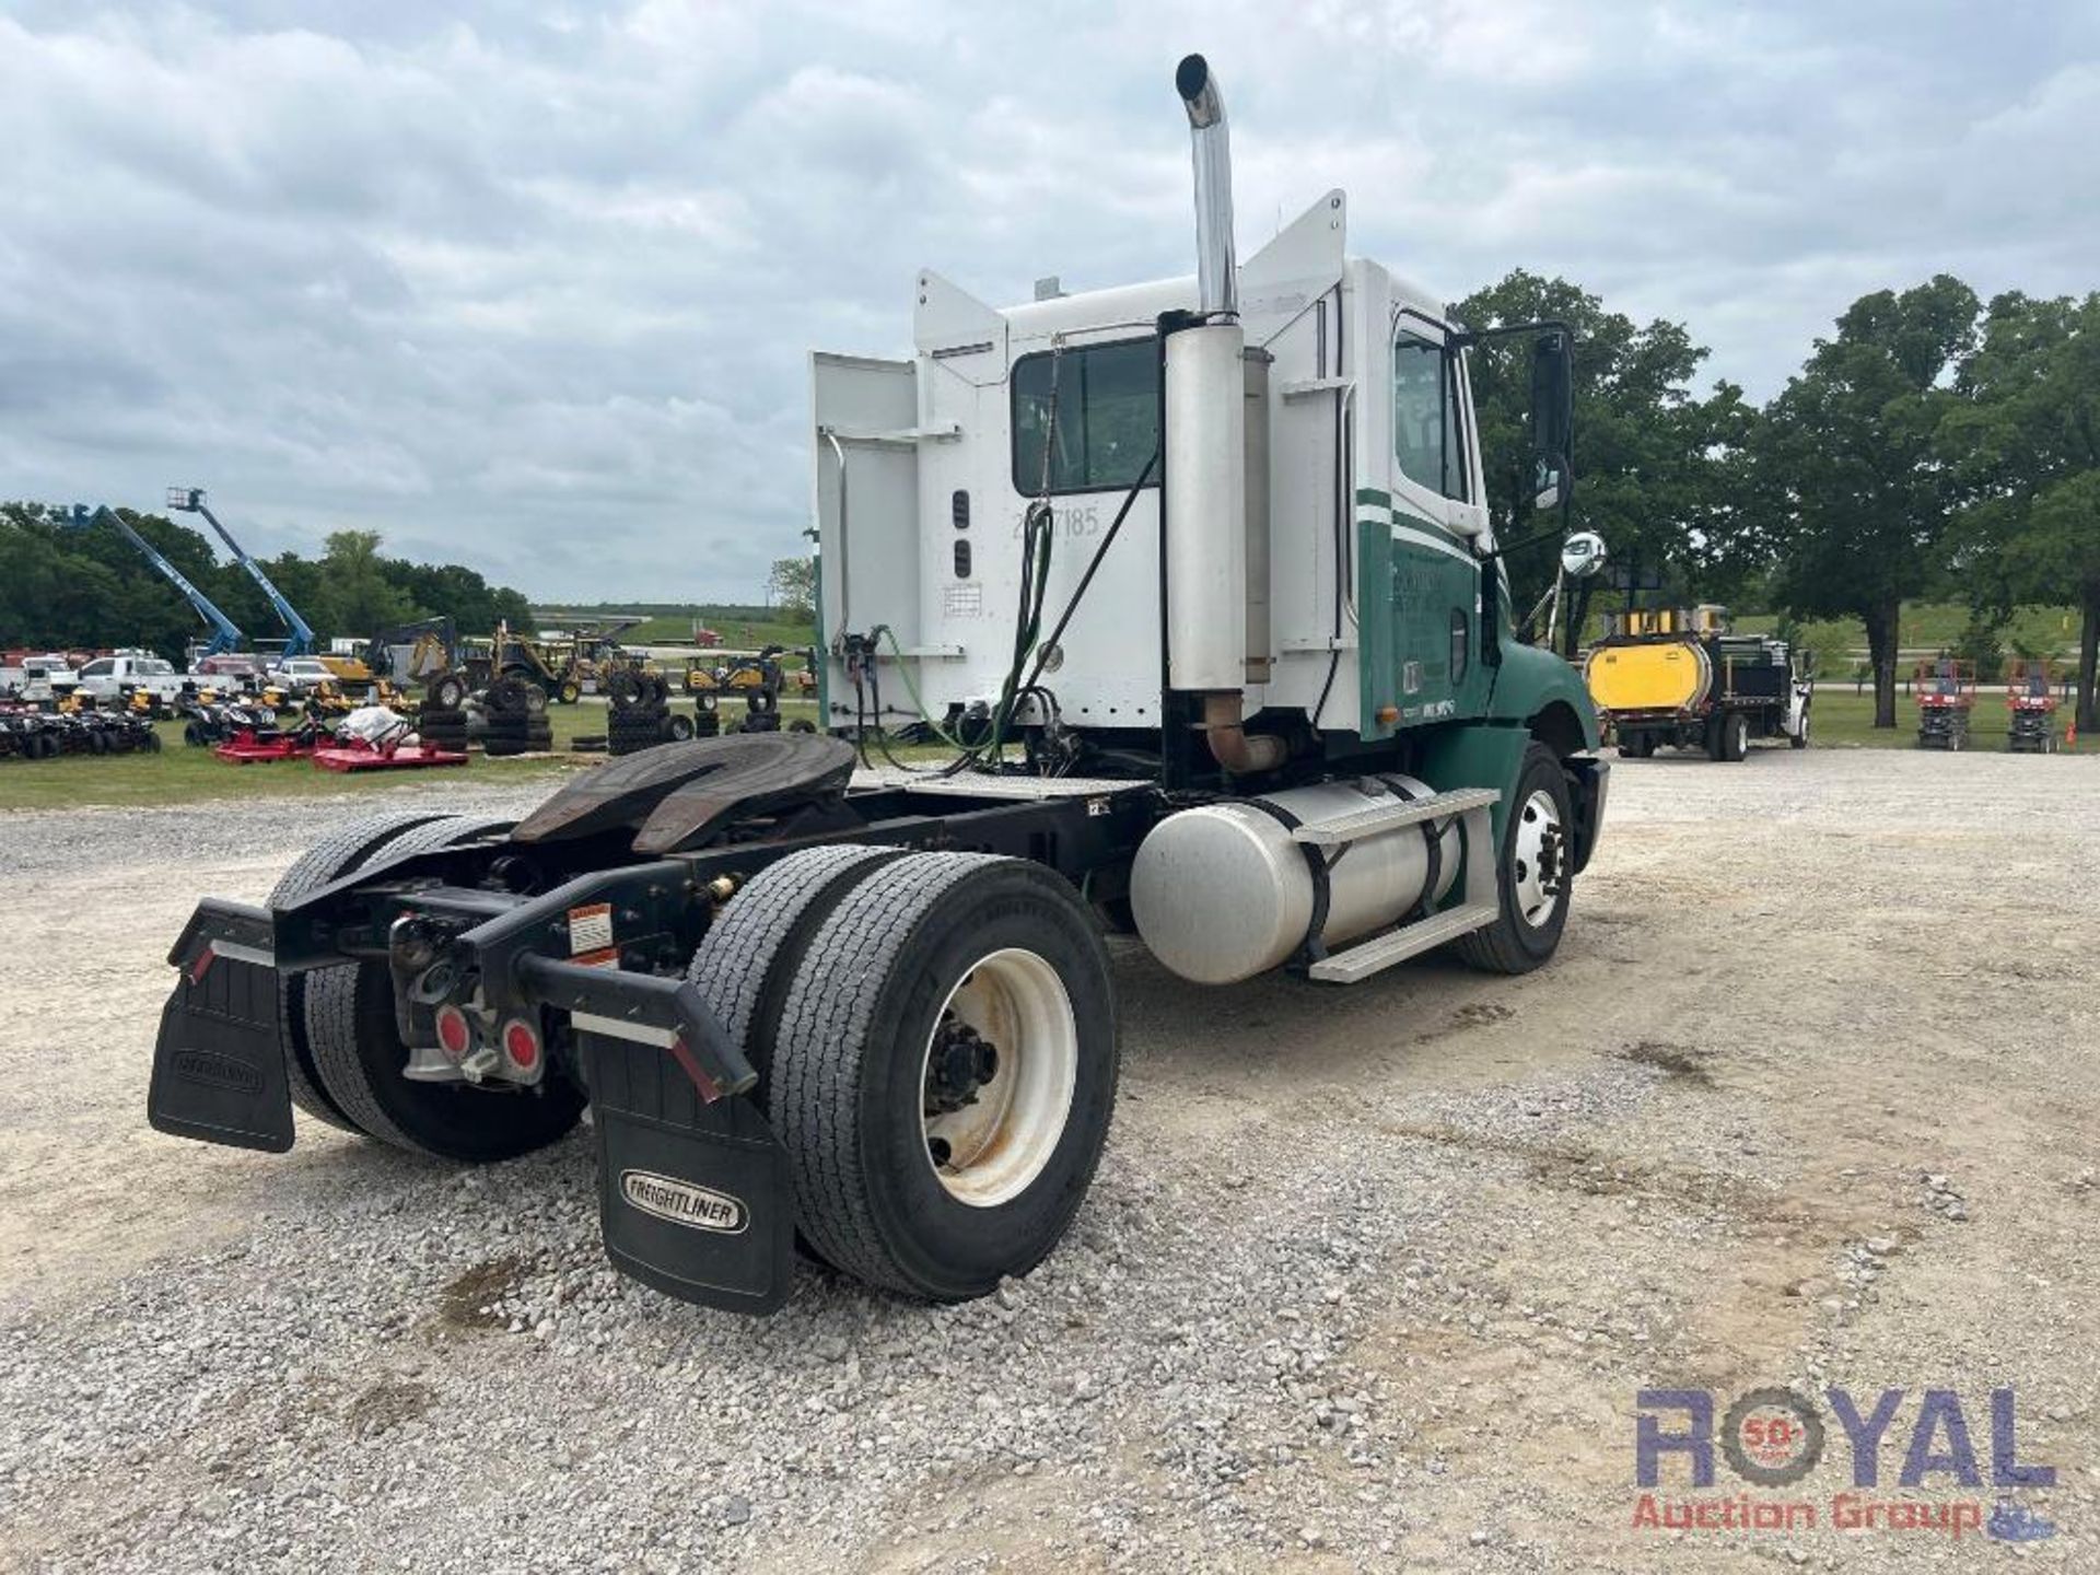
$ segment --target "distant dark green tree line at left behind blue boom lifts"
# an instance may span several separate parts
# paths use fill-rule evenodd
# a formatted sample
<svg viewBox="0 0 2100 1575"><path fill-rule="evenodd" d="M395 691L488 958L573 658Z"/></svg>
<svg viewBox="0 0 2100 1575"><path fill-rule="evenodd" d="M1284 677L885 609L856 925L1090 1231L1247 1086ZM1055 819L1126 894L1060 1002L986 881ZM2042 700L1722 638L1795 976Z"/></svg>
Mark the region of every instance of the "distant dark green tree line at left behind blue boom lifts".
<svg viewBox="0 0 2100 1575"><path fill-rule="evenodd" d="M118 510L256 643L284 622L239 563L223 563L204 533L160 514ZM145 554L107 525L74 529L48 504L0 504L0 645L36 649L143 647L181 662L210 630ZM380 552L376 531L336 531L321 556L256 559L321 640L365 640L418 617L452 617L462 634L500 620L533 630L523 592L491 586L458 563L410 563Z"/></svg>

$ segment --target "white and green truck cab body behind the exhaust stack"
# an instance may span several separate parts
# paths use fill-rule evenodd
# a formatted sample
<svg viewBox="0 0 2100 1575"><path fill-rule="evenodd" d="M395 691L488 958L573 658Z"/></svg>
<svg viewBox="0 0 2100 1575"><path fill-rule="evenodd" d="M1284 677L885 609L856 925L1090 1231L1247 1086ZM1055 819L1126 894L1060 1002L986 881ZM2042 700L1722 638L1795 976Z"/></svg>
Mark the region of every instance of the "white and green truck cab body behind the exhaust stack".
<svg viewBox="0 0 2100 1575"><path fill-rule="evenodd" d="M1182 403L1203 414L1168 374L1174 326L1201 309L1195 277L1044 281L993 309L926 269L911 359L815 355L827 724L987 714L1033 573L1027 521L1046 508L1044 636L1067 603L1071 617L1021 727L1121 752L1166 729L1172 773L1174 733L1220 720L1216 704L1176 714L1180 643L1205 651L1203 687L1233 695L1222 720L1287 739L1285 775L1411 764L1447 752L1455 724L1531 731L1571 760L1596 750L1579 676L1512 630L1470 334L1432 292L1350 256L1346 212L1329 191L1237 267L1224 376L1243 380L1241 435L1178 468L1159 456L1191 426ZM1178 559L1163 550L1176 491L1205 496ZM1212 508L1210 491L1237 498Z"/></svg>

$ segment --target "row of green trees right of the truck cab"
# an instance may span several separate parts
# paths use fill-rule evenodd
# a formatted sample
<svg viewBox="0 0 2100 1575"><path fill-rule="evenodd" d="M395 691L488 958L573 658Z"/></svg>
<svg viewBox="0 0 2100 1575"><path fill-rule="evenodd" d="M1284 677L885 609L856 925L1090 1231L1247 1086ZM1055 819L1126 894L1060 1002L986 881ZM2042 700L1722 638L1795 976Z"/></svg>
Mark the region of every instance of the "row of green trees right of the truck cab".
<svg viewBox="0 0 2100 1575"><path fill-rule="evenodd" d="M1661 582L1646 601L1858 617L1875 727L1896 724L1905 601L1966 603L1961 655L1995 651L2016 607L2068 603L2077 724L2096 724L2100 294L1982 302L1945 273L1877 290L1762 407L1726 380L1695 391L1707 351L1680 323L1636 326L1567 279L1512 273L1451 313L1575 330L1575 525ZM1539 529L1525 357L1518 336L1472 361L1504 540ZM1548 584L1552 565L1552 542L1510 554L1520 586Z"/></svg>

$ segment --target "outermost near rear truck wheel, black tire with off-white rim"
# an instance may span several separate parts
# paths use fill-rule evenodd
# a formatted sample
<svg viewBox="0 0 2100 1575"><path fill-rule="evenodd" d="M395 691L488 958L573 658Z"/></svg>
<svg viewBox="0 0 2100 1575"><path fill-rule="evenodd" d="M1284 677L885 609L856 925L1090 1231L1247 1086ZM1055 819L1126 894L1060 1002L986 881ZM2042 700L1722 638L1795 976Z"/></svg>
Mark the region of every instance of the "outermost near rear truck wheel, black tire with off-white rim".
<svg viewBox="0 0 2100 1575"><path fill-rule="evenodd" d="M775 1031L796 1224L872 1285L983 1296L1065 1235L1115 1075L1109 958L1060 876L976 853L884 865L811 939Z"/></svg>

